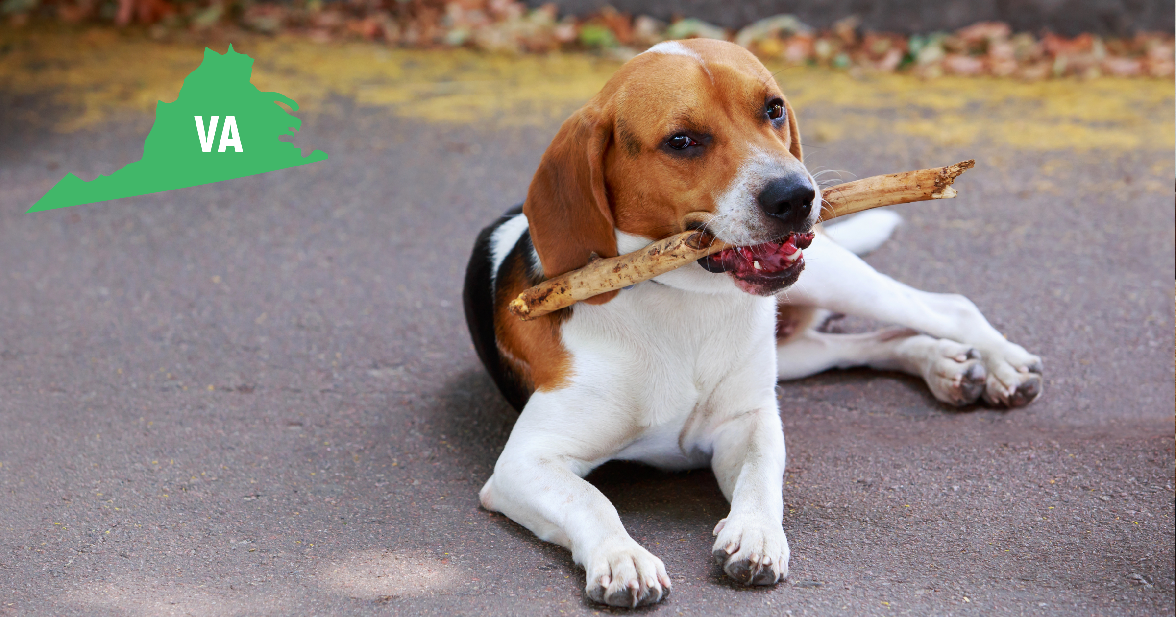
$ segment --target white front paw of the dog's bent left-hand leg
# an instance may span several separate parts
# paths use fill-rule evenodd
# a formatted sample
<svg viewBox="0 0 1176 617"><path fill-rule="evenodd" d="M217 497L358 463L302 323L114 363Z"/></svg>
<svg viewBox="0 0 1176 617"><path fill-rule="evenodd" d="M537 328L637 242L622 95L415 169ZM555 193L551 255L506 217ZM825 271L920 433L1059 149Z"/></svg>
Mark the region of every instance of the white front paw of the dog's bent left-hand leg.
<svg viewBox="0 0 1176 617"><path fill-rule="evenodd" d="M589 598L612 606L656 604L669 596L666 564L633 538L607 541L584 561Z"/></svg>

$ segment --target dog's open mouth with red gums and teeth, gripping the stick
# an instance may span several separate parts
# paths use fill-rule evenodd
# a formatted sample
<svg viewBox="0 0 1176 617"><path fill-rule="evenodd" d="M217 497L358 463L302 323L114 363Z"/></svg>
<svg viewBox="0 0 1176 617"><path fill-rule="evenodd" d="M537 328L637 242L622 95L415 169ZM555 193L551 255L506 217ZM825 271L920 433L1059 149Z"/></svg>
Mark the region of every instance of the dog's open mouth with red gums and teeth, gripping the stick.
<svg viewBox="0 0 1176 617"><path fill-rule="evenodd" d="M727 273L744 291L766 295L796 282L804 269L803 249L813 243L813 233L787 236L721 250L699 260L699 266L713 273Z"/></svg>

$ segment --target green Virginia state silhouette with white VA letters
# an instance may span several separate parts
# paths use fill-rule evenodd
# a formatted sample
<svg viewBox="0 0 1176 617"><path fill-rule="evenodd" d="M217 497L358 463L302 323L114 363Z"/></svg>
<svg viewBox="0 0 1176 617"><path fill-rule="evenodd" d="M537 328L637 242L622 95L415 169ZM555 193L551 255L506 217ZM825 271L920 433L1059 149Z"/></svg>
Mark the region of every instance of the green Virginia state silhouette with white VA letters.
<svg viewBox="0 0 1176 617"><path fill-rule="evenodd" d="M205 48L205 59L183 80L175 102L155 106L155 125L143 156L108 176L85 182L66 174L28 212L52 210L134 195L149 195L286 169L327 160L280 141L302 127L278 101L298 103L249 82L253 59L233 51ZM215 120L213 119L215 116Z"/></svg>

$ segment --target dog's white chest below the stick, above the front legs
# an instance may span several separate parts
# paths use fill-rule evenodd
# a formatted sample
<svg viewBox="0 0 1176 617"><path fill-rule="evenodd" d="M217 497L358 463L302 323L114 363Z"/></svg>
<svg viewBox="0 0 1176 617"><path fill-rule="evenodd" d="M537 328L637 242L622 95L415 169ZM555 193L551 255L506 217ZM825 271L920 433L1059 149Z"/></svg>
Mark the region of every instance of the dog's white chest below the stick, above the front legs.
<svg viewBox="0 0 1176 617"><path fill-rule="evenodd" d="M601 400L602 422L632 427L632 438L610 457L662 468L706 464L707 448L684 431L700 415L717 420L771 396L775 315L770 297L656 282L603 306L576 307L562 328L573 388Z"/></svg>

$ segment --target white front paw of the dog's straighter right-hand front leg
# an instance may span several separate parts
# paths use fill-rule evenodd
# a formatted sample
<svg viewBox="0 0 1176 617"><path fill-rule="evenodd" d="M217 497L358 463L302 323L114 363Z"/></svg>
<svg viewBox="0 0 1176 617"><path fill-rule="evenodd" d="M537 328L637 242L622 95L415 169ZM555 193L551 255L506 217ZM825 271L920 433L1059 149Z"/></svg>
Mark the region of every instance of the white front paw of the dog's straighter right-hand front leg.
<svg viewBox="0 0 1176 617"><path fill-rule="evenodd" d="M788 576L788 536L783 527L723 518L715 525L711 554L727 576L744 585L774 585Z"/></svg>

